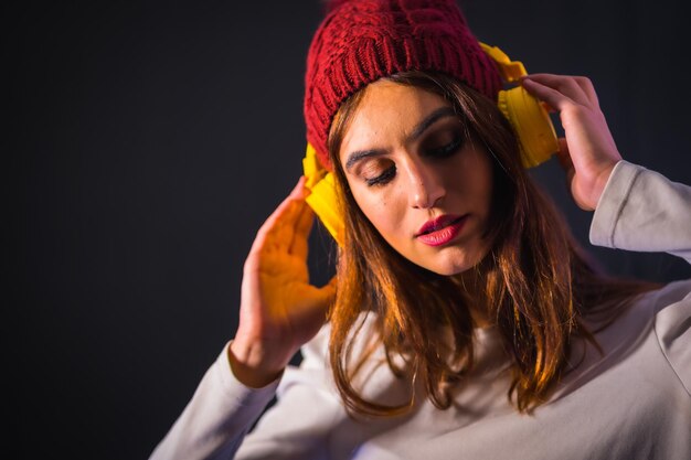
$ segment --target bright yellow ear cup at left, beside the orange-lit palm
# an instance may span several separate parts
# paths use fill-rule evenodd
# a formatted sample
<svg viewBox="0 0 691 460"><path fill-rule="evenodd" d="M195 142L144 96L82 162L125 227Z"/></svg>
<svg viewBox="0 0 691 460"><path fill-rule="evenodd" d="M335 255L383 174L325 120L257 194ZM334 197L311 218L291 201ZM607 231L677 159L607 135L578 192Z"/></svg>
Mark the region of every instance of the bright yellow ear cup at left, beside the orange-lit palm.
<svg viewBox="0 0 691 460"><path fill-rule="evenodd" d="M339 214L338 195L333 174L325 170L317 160L315 148L308 143L302 159L305 186L310 194L305 199L309 207L315 211L333 239L343 246L343 220Z"/></svg>

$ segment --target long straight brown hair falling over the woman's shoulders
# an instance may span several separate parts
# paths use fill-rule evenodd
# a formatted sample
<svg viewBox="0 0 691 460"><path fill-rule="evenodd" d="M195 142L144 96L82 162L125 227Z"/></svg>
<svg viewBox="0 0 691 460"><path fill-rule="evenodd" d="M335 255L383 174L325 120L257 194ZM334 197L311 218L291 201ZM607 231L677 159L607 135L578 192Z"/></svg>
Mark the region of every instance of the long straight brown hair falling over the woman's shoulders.
<svg viewBox="0 0 691 460"><path fill-rule="evenodd" d="M493 191L489 231L491 248L475 268L482 279L488 315L512 357L508 397L529 411L549 397L565 371L570 339L593 341L582 319L616 312L655 285L614 279L599 272L572 237L563 217L521 165L517 138L496 105L442 74L406 72L389 79L435 93L448 100L476 147L492 159ZM366 88L364 89L366 90ZM330 312L329 352L337 387L346 406L359 414L396 415L413 405L382 405L353 386L358 370L383 345L395 375L418 379L438 408L451 405L451 392L472 368L472 332L467 292L458 277L434 274L396 253L355 203L339 150L364 90L340 107L329 136L346 224L338 263L337 299ZM424 300L421 300L424 299ZM365 313L365 314L363 314ZM376 334L369 349L354 354L363 318L374 314ZM451 331L443 339L440 327ZM396 356L404 359L395 365Z"/></svg>

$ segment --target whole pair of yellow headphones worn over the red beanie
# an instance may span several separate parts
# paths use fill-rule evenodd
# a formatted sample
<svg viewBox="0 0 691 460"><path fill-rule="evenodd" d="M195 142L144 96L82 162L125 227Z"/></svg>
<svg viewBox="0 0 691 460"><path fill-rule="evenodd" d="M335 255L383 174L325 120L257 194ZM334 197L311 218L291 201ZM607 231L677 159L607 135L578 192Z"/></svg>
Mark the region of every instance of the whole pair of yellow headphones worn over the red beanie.
<svg viewBox="0 0 691 460"><path fill-rule="evenodd" d="M480 43L482 50L497 63L506 83L515 83L528 75L519 61L511 61L497 46ZM536 167L546 161L559 150L556 132L549 114L542 104L528 94L522 86L500 90L499 109L509 119L515 131L521 149L521 159L525 168ZM315 211L339 246L343 246L343 220L338 212L338 197L333 173L325 170L317 160L315 148L308 143L302 159L305 186L310 191L307 204Z"/></svg>

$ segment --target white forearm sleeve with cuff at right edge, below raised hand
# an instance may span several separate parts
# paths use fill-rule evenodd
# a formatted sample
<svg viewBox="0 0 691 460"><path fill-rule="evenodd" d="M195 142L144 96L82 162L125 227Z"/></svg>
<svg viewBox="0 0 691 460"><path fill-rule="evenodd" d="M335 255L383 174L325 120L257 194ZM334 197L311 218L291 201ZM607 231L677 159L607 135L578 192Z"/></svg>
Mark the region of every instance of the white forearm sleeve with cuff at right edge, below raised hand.
<svg viewBox="0 0 691 460"><path fill-rule="evenodd" d="M619 161L597 203L591 243L665 252L691 264L691 186Z"/></svg>

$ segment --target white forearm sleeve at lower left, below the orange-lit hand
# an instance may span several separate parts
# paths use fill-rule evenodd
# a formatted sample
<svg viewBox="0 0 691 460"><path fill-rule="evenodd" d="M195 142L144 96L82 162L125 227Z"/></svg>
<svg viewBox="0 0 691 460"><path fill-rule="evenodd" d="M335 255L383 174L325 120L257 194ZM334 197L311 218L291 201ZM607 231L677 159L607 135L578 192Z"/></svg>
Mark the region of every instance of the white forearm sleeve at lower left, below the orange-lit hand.
<svg viewBox="0 0 691 460"><path fill-rule="evenodd" d="M278 381L248 388L231 371L227 346L202 377L192 399L149 460L232 459L272 400Z"/></svg>

